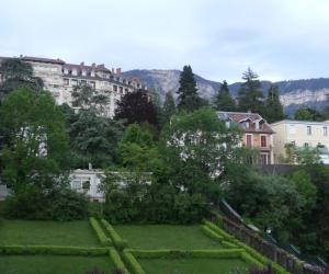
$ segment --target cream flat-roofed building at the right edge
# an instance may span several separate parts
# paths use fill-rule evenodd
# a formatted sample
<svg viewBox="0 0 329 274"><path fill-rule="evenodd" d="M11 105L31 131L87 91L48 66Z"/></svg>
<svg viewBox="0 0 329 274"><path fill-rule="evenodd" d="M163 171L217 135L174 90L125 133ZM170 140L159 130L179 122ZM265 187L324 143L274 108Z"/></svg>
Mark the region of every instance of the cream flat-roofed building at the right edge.
<svg viewBox="0 0 329 274"><path fill-rule="evenodd" d="M296 147L318 148L319 157L326 164L329 163L329 121L307 122L283 119L271 124L274 135L274 161L280 163L286 157L285 145Z"/></svg>

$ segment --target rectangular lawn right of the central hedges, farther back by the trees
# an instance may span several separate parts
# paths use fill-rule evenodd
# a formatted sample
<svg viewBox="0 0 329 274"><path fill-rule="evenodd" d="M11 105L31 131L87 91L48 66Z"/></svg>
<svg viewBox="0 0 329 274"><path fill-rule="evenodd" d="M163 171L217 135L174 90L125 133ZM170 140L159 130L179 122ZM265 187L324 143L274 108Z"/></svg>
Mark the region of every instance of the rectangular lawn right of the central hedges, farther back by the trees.
<svg viewBox="0 0 329 274"><path fill-rule="evenodd" d="M220 243L203 235L201 226L115 226L135 249L220 249Z"/></svg>

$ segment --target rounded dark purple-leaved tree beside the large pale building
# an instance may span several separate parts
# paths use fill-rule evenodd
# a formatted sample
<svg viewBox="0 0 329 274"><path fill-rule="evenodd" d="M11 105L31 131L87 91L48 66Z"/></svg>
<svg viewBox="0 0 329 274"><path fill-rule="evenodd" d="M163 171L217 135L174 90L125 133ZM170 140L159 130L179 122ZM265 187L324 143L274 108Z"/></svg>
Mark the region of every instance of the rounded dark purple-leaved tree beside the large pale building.
<svg viewBox="0 0 329 274"><path fill-rule="evenodd" d="M126 93L117 102L115 119L125 119L126 124L157 124L157 113L148 93L144 90Z"/></svg>

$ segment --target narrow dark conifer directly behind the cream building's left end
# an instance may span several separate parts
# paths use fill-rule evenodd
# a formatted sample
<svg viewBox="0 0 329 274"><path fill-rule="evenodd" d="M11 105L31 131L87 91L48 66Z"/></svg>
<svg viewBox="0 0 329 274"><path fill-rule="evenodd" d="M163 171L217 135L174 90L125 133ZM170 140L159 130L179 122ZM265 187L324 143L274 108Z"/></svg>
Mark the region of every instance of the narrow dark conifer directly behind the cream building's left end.
<svg viewBox="0 0 329 274"><path fill-rule="evenodd" d="M276 84L271 84L269 88L264 113L269 123L274 123L285 117L283 113L283 106L280 102L279 88Z"/></svg>

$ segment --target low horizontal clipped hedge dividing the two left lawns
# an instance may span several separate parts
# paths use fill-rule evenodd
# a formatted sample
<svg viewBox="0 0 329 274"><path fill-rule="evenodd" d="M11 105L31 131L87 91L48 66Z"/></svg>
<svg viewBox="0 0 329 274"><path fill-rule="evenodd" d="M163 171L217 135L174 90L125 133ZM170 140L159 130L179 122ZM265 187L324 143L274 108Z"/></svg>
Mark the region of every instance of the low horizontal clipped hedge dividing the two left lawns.
<svg viewBox="0 0 329 274"><path fill-rule="evenodd" d="M109 249L69 246L0 246L0 254L106 255Z"/></svg>

